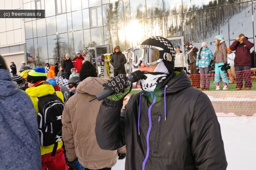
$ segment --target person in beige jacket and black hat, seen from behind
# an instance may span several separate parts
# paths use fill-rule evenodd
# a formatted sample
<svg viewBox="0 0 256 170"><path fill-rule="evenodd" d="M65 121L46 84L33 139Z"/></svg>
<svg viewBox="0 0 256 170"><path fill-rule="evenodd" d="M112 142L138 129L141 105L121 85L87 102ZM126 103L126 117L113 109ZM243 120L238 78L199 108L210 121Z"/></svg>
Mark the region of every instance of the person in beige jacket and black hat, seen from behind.
<svg viewBox="0 0 256 170"><path fill-rule="evenodd" d="M98 78L96 67L85 61L80 70L81 83L77 93L65 105L62 114L62 138L69 162L78 158L89 170L110 170L117 162L118 154L125 158L125 147L114 151L100 149L95 135L95 124L101 102L89 100L103 90L106 80Z"/></svg>

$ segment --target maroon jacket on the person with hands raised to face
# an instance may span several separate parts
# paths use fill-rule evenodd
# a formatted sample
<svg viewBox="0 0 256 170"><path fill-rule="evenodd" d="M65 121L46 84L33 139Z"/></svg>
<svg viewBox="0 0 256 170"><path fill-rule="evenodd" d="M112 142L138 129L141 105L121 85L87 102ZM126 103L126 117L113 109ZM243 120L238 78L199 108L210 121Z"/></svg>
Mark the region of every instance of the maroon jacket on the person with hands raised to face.
<svg viewBox="0 0 256 170"><path fill-rule="evenodd" d="M234 41L230 46L230 50L235 51L235 65L234 66L251 66L252 57L250 49L254 46L253 43L248 41L247 37L243 38L244 43L240 44L238 41Z"/></svg>

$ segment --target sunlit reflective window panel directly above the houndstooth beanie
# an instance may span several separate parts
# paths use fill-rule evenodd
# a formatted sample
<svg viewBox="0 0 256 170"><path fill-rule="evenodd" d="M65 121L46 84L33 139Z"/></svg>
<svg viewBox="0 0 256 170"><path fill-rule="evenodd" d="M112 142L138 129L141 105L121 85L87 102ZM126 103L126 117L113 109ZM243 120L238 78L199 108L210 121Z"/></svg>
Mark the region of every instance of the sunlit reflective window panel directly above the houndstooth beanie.
<svg viewBox="0 0 256 170"><path fill-rule="evenodd" d="M148 37L164 37L164 17L148 19Z"/></svg>

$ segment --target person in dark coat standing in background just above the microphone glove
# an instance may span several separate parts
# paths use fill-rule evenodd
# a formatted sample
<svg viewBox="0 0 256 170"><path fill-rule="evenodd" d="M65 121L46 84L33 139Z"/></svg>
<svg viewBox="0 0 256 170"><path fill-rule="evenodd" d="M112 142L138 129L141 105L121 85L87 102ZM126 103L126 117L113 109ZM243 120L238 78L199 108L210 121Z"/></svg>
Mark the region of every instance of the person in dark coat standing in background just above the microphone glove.
<svg viewBox="0 0 256 170"><path fill-rule="evenodd" d="M125 54L121 52L119 46L114 47L113 55L110 59L111 65L114 67L114 77L119 74L126 74L125 63L127 62Z"/></svg>

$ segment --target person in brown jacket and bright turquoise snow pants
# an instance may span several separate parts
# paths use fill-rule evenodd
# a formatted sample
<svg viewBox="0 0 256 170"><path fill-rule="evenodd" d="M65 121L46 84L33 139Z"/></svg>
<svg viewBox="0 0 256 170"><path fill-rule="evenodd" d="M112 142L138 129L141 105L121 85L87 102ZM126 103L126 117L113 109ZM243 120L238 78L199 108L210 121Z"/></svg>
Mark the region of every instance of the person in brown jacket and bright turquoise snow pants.
<svg viewBox="0 0 256 170"><path fill-rule="evenodd" d="M215 36L215 42L216 42L216 51L212 57L212 60L210 62L210 65L213 64L213 61L215 60L215 75L214 75L214 80L215 80L215 85L216 85L216 90L220 90L220 76L223 81L223 90L229 89L228 83L229 80L227 79L226 72L225 70L221 70L221 67L224 64L227 65L227 46L225 44L224 36L223 35L218 35Z"/></svg>

